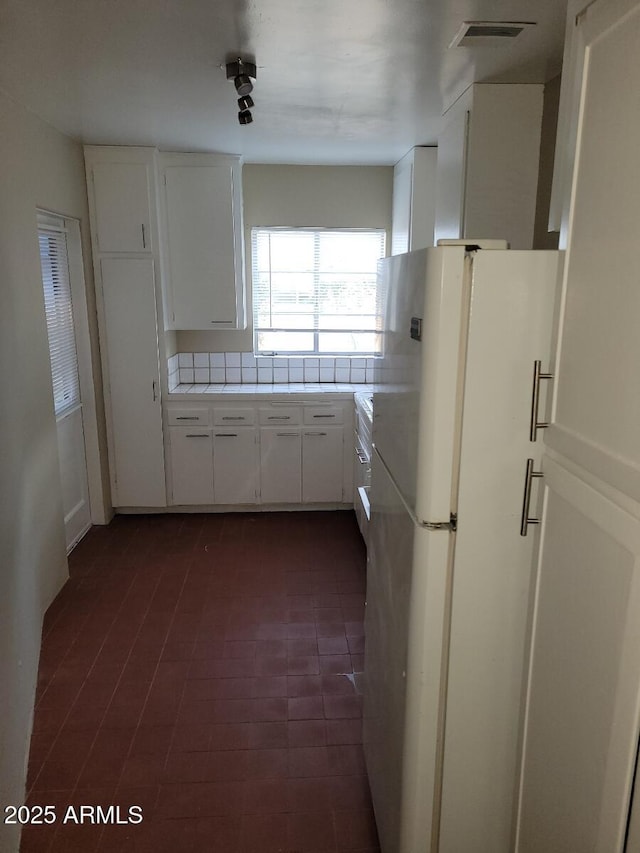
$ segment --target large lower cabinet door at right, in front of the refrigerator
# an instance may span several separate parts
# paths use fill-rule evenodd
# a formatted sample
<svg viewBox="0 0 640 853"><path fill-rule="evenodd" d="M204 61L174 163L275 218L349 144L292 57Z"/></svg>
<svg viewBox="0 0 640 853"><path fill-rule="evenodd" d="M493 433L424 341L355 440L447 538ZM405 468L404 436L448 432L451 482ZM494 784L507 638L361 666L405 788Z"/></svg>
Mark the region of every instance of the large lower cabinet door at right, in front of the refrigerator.
<svg viewBox="0 0 640 853"><path fill-rule="evenodd" d="M515 849L631 853L639 849L625 847L625 832L638 746L640 520L597 481L549 457L542 470Z"/></svg>

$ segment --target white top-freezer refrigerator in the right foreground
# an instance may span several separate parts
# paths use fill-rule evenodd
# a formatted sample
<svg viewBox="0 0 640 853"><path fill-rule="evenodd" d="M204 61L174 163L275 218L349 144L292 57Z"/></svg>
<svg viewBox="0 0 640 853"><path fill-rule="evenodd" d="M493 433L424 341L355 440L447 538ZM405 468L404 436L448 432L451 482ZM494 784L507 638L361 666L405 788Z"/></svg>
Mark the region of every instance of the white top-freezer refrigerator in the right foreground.
<svg viewBox="0 0 640 853"><path fill-rule="evenodd" d="M363 739L382 853L513 849L562 255L499 245L380 264Z"/></svg>

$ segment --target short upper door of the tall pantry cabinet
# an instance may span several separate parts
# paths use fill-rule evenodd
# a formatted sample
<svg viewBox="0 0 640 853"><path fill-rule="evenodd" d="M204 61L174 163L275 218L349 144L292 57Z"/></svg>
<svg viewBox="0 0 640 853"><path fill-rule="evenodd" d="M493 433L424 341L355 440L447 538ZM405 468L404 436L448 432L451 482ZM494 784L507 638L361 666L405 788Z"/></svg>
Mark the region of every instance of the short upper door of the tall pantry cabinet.
<svg viewBox="0 0 640 853"><path fill-rule="evenodd" d="M151 252L149 173L144 163L92 167L100 252Z"/></svg>

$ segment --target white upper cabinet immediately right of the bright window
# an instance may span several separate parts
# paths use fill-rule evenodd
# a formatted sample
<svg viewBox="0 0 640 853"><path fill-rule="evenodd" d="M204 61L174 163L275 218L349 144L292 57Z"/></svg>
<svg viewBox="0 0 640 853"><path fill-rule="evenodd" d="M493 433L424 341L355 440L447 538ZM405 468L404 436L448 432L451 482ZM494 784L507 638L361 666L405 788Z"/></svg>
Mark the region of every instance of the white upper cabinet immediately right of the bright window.
<svg viewBox="0 0 640 853"><path fill-rule="evenodd" d="M391 254L433 246L438 149L412 148L393 169Z"/></svg>

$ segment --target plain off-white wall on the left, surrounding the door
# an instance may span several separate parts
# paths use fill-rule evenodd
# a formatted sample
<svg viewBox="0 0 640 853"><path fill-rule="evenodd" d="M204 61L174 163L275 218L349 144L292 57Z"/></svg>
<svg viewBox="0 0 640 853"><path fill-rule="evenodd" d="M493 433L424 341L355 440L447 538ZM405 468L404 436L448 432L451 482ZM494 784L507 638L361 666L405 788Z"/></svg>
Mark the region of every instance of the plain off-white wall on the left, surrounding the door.
<svg viewBox="0 0 640 853"><path fill-rule="evenodd" d="M42 617L67 577L36 207L81 219L82 150L0 93L0 804L20 804ZM92 345L96 348L95 322ZM94 361L96 361L94 359ZM104 476L104 473L103 473ZM0 850L18 849L0 821Z"/></svg>

